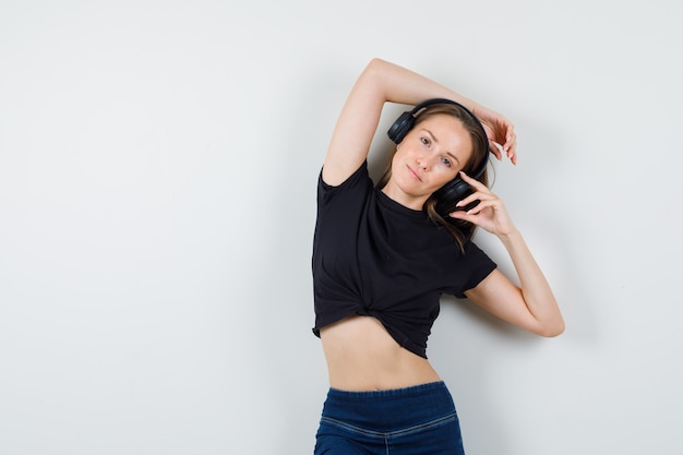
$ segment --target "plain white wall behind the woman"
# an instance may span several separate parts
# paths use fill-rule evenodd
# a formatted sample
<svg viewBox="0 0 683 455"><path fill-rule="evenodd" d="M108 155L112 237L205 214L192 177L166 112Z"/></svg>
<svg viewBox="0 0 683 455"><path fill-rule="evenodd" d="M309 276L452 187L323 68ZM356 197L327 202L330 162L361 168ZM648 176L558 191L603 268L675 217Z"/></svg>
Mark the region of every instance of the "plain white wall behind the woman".
<svg viewBox="0 0 683 455"><path fill-rule="evenodd" d="M494 190L566 318L542 339L444 299L428 352L468 453L683 454L682 16L3 0L0 453L312 453L315 182L376 56L515 122Z"/></svg>

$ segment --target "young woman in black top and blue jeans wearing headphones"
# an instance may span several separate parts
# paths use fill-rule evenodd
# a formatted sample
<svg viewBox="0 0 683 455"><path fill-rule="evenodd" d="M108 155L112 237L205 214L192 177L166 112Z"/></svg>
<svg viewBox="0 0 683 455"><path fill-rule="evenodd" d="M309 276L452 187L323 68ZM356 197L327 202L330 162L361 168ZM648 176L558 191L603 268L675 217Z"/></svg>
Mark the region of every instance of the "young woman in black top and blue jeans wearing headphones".
<svg viewBox="0 0 683 455"><path fill-rule="evenodd" d="M387 101L416 109L392 125L396 152L374 187L367 157ZM464 453L453 400L426 355L444 292L539 335L563 332L550 286L487 187L489 153L516 163L502 115L380 59L354 85L317 188L313 332L331 388L315 454ZM476 227L503 242L520 287L471 242Z"/></svg>

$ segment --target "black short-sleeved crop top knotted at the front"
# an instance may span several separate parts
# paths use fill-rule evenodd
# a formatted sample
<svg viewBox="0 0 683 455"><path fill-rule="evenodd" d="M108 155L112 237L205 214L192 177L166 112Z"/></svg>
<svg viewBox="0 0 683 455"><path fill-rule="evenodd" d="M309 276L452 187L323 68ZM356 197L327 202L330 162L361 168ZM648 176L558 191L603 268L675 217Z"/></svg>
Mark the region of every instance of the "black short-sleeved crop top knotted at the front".
<svg viewBox="0 0 683 455"><path fill-rule="evenodd" d="M317 182L313 333L350 315L376 318L404 348L427 358L440 297L477 286L495 263L422 211L374 189L364 163L338 187Z"/></svg>

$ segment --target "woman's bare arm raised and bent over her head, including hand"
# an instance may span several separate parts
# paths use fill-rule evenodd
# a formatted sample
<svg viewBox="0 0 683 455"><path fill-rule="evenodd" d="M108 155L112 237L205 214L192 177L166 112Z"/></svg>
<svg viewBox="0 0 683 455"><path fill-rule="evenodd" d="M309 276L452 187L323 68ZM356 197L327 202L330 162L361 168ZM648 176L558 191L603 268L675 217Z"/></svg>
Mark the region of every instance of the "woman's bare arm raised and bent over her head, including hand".
<svg viewBox="0 0 683 455"><path fill-rule="evenodd" d="M516 161L515 133L505 117L410 70L372 59L351 88L335 125L323 167L325 183L340 184L366 160L384 103L415 106L429 98L448 98L469 108L490 141L503 144L507 157ZM491 152L502 158L496 147Z"/></svg>

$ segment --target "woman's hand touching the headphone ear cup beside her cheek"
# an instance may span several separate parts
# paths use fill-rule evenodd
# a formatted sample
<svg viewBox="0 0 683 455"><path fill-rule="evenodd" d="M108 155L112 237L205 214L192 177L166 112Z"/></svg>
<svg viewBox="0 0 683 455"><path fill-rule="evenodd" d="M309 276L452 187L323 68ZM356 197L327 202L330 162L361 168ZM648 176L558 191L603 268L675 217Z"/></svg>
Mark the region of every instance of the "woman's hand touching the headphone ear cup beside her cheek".
<svg viewBox="0 0 683 455"><path fill-rule="evenodd" d="M452 218L472 223L499 237L508 236L516 230L505 204L499 196L479 180L472 179L463 171L460 171L460 179L469 183L474 193L458 202L457 206L462 207L477 200L479 204L467 212L453 212Z"/></svg>

